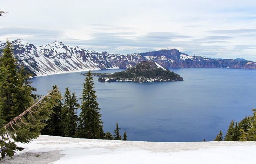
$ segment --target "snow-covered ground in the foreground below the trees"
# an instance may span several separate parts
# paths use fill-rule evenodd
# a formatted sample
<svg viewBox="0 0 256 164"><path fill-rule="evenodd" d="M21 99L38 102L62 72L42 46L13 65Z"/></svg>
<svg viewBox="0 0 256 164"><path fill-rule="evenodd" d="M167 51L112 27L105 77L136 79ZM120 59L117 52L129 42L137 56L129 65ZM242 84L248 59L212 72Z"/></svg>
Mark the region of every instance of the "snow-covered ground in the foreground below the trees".
<svg viewBox="0 0 256 164"><path fill-rule="evenodd" d="M255 164L256 142L138 142L43 136L1 164Z"/></svg>

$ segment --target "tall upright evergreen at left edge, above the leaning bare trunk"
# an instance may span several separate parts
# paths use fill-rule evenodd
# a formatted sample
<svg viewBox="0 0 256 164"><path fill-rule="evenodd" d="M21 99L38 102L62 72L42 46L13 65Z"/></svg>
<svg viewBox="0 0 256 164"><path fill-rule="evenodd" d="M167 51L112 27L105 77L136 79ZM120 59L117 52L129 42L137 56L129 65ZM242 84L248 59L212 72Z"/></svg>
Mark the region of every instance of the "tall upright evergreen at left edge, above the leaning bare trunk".
<svg viewBox="0 0 256 164"><path fill-rule="evenodd" d="M0 99L2 119L9 122L12 118L29 107L36 95L36 91L30 84L30 74L17 64L11 50L11 43L6 41L6 48L3 49L2 58L0 58L1 75L3 75L0 85Z"/></svg>

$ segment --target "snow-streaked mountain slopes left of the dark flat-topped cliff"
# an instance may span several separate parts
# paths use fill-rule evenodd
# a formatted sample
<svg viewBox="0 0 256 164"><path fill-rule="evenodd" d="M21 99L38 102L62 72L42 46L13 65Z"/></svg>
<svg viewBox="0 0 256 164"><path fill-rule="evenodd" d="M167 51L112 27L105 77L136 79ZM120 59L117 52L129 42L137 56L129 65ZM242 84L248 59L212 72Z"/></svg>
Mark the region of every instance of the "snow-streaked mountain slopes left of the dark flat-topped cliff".
<svg viewBox="0 0 256 164"><path fill-rule="evenodd" d="M19 63L24 64L36 76L98 69L127 68L143 60L138 55L118 55L97 52L55 41L35 47L24 40L11 42ZM0 44L0 49L6 44Z"/></svg>

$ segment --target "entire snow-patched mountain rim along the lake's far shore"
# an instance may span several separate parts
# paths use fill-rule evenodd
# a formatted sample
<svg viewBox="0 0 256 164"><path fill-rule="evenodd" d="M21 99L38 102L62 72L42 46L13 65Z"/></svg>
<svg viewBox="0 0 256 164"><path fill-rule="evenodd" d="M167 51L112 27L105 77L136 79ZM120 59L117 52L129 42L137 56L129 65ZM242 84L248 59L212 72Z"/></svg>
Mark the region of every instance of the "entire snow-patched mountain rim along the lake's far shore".
<svg viewBox="0 0 256 164"><path fill-rule="evenodd" d="M65 45L62 42L35 47L33 44L18 39L12 41L13 53L19 64L25 65L34 76L80 72L99 69L129 68L142 61L153 61L163 67L188 68L239 68L256 69L256 62L244 59L217 59L189 56L177 49L162 49L139 54L109 54ZM0 44L0 50L6 43ZM2 51L0 51L0 56Z"/></svg>

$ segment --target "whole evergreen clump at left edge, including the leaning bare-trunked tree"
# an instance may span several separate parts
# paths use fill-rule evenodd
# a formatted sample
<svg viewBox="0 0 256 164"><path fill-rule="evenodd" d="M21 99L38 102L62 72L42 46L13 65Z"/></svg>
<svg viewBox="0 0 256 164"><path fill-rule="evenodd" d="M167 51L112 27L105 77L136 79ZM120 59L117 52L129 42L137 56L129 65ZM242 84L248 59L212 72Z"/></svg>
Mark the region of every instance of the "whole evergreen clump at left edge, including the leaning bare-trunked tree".
<svg viewBox="0 0 256 164"><path fill-rule="evenodd" d="M2 12L0 16L1 14ZM2 51L4 53L0 58L0 158L6 155L13 156L15 151L22 150L16 146L16 142L27 143L38 137L44 126L42 120L48 118L51 111L47 102L34 106L34 110L25 111L37 98L32 94L36 89L30 85L30 74L17 64L8 40ZM21 113L23 114L20 115ZM9 121L13 119L14 122L10 123ZM13 140L10 141L10 138Z"/></svg>

